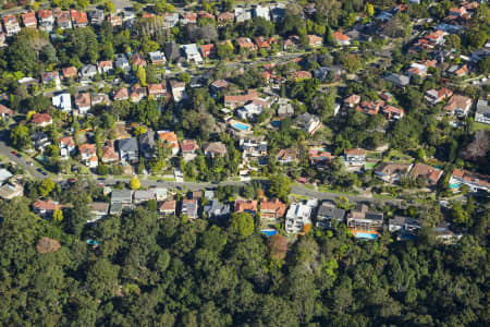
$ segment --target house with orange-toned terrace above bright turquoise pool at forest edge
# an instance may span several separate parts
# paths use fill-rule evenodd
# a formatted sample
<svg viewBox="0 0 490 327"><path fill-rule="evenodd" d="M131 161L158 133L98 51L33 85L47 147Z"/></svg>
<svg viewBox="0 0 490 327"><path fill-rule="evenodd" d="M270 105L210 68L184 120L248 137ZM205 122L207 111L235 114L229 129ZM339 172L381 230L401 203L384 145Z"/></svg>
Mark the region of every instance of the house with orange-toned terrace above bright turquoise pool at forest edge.
<svg viewBox="0 0 490 327"><path fill-rule="evenodd" d="M370 211L365 204L357 204L347 214L347 227L356 238L376 239L383 228L383 214Z"/></svg>

